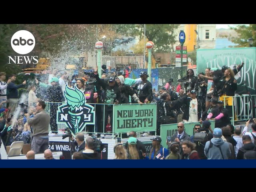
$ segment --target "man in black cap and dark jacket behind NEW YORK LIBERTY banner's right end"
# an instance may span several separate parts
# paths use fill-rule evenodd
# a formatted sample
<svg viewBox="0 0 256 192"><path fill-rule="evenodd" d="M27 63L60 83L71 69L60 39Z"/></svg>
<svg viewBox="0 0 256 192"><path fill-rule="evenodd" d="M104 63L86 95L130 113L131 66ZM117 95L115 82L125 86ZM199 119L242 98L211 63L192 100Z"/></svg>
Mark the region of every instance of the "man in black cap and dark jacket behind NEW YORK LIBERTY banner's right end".
<svg viewBox="0 0 256 192"><path fill-rule="evenodd" d="M140 72L142 82L138 85L138 98L142 103L150 103L153 100L152 84L147 80L148 73Z"/></svg>

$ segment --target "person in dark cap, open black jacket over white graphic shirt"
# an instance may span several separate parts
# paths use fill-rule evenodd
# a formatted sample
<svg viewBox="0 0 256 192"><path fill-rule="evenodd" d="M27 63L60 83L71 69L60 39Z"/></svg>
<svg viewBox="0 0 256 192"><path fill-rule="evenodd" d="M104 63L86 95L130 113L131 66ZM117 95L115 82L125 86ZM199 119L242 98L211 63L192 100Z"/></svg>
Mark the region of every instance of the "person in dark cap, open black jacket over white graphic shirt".
<svg viewBox="0 0 256 192"><path fill-rule="evenodd" d="M201 101L196 98L196 91L192 90L187 93L186 109L184 111L183 119L188 122L198 122L202 115ZM190 96L190 97L189 97Z"/></svg>

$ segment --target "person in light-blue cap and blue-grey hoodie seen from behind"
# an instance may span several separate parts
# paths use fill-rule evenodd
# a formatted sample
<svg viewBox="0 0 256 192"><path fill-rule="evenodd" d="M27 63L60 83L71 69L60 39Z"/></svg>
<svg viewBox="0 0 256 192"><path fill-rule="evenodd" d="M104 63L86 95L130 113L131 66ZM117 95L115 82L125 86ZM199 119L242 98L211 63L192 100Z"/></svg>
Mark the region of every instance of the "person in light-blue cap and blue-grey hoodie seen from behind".
<svg viewBox="0 0 256 192"><path fill-rule="evenodd" d="M215 128L213 130L213 138L206 142L204 154L207 159L229 159L231 151L228 142L221 139L222 130Z"/></svg>

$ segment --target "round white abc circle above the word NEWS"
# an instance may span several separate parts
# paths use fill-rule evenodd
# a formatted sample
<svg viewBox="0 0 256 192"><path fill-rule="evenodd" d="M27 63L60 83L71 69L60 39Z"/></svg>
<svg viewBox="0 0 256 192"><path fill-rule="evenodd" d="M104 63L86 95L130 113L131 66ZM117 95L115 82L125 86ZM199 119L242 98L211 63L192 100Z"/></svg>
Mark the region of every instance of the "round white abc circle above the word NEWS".
<svg viewBox="0 0 256 192"><path fill-rule="evenodd" d="M36 41L32 33L26 30L20 30L13 34L11 45L18 54L28 54L35 47Z"/></svg>

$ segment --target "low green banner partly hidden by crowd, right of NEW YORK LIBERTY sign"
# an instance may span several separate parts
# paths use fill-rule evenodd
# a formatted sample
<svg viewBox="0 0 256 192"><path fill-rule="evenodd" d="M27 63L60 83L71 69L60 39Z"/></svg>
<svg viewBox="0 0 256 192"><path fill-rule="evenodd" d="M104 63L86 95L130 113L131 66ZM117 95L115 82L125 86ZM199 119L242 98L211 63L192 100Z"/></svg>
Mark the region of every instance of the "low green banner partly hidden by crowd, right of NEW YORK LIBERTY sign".
<svg viewBox="0 0 256 192"><path fill-rule="evenodd" d="M210 122L211 122L212 130L214 130L215 121L210 121ZM183 123L184 123L184 131L190 136L194 135L195 124L200 124L200 122L183 122ZM177 125L178 123L161 125L160 137L162 139L162 146L164 146L165 148L167 148L167 145L166 145L167 137L173 136L178 131Z"/></svg>

